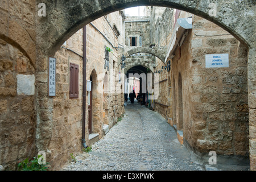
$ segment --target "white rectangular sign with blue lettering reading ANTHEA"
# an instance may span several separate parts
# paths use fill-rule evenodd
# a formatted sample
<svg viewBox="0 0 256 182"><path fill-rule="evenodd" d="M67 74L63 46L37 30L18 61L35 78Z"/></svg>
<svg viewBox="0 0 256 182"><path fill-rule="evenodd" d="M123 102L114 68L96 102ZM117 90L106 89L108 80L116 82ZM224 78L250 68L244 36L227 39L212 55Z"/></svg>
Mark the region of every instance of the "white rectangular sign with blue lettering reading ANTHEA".
<svg viewBox="0 0 256 182"><path fill-rule="evenodd" d="M216 53L205 55L205 68L223 68L229 67L229 54Z"/></svg>

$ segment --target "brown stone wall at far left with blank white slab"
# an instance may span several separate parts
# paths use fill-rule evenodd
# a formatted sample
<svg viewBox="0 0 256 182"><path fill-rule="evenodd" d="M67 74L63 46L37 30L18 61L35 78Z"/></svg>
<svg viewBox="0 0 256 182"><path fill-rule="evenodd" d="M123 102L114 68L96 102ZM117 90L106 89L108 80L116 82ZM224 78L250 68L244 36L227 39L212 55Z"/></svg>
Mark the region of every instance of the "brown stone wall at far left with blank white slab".
<svg viewBox="0 0 256 182"><path fill-rule="evenodd" d="M1 1L0 164L35 156L35 1Z"/></svg>

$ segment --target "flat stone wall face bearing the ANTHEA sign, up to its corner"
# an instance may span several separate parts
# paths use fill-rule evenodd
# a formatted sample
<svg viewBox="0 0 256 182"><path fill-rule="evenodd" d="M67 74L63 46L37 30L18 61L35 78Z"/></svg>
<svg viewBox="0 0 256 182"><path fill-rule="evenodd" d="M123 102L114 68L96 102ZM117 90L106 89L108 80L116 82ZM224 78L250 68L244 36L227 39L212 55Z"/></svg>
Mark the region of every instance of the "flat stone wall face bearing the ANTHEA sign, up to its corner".
<svg viewBox="0 0 256 182"><path fill-rule="evenodd" d="M192 40L187 48L191 49L191 59L183 60L190 62L189 68L183 69L190 70L189 79L184 78L183 82L191 85L188 92L192 92L192 96L188 101L193 106L191 115L187 116L187 131L192 133L185 133L185 138L202 152L215 150L219 154L247 156L247 50L215 24L199 16L195 16L194 21ZM229 68L205 68L205 54L210 53L229 53ZM187 106L185 102L184 106Z"/></svg>

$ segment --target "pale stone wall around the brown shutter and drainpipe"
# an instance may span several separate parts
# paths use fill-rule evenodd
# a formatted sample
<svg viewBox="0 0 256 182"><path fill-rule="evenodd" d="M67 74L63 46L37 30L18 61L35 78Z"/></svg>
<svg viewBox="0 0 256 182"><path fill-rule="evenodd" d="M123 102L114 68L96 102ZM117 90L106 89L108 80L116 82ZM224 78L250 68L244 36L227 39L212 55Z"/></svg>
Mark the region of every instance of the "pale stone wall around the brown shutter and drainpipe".
<svg viewBox="0 0 256 182"><path fill-rule="evenodd" d="M124 113L123 95L120 92L118 72L117 36L110 24L119 27L119 12L109 14L86 26L86 80L92 77L92 133L98 139L104 135L103 125L111 128ZM122 24L121 24L122 25ZM56 52L56 97L53 98L53 135L48 150L53 169L58 169L70 159L70 154L82 150L82 30L79 30ZM120 41L122 42L122 40ZM110 47L110 68L105 68L105 47ZM69 98L69 64L79 65L79 98ZM104 86L104 89L103 89ZM119 90L118 90L119 89ZM117 91L119 93L117 93ZM85 139L90 146L88 133L88 100L86 92Z"/></svg>

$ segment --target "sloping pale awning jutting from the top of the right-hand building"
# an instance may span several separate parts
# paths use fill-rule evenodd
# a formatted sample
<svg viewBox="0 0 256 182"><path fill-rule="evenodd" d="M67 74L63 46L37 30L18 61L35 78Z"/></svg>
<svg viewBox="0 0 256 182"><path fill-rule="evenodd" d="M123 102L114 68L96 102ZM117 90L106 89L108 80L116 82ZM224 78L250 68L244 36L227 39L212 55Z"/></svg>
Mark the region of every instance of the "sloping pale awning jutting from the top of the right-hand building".
<svg viewBox="0 0 256 182"><path fill-rule="evenodd" d="M168 51L165 59L165 63L167 61L167 58L169 55L172 55L177 45L181 46L185 36L184 31L186 29L192 28L192 17L189 18L179 18L177 19L177 22L175 23L174 32L172 32L171 42L168 46Z"/></svg>

